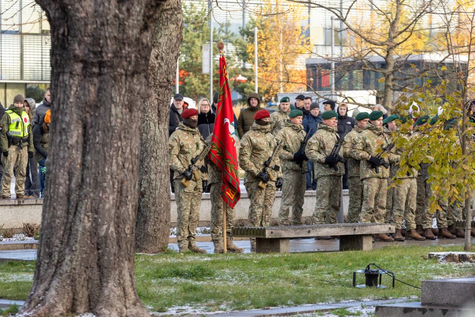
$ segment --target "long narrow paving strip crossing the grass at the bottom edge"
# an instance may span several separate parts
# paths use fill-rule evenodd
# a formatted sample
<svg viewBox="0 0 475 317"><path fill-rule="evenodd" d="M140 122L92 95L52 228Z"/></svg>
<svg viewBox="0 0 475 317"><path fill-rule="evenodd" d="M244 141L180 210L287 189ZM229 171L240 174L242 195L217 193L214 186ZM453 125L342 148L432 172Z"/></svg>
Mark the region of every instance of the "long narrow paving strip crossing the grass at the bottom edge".
<svg viewBox="0 0 475 317"><path fill-rule="evenodd" d="M337 308L348 308L348 307L359 307L359 306L375 306L375 305L384 305L384 304L393 304L401 303L412 300L410 298L395 298L387 300L363 300L363 301L350 301L350 302L340 302L340 303L328 303L328 304L316 304L316 305L302 305L295 307L280 307L280 308L269 308L269 309L253 309L253 310L241 310L241 311L230 311L225 313L218 314L209 314L208 316L226 316L226 317L239 317L239 316L289 316L295 314L303 313L314 313L317 311L325 311L330 309Z"/></svg>

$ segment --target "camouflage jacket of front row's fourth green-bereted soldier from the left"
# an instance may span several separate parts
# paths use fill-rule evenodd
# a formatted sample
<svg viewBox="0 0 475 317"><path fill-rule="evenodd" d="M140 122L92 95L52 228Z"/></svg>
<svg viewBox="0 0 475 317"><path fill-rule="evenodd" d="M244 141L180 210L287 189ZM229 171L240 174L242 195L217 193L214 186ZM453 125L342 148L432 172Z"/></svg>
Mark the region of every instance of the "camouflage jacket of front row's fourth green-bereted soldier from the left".
<svg viewBox="0 0 475 317"><path fill-rule="evenodd" d="M376 173L375 168L368 161L371 156L378 155L389 144L390 140L387 140L386 135L383 133L383 127L377 127L368 123L366 129L360 133L359 138L356 140L356 145L352 146L350 155L354 159L360 160L360 178L388 178L389 168L381 165L379 166L379 173ZM389 163L397 163L399 161L399 155L392 152L385 153L383 157Z"/></svg>

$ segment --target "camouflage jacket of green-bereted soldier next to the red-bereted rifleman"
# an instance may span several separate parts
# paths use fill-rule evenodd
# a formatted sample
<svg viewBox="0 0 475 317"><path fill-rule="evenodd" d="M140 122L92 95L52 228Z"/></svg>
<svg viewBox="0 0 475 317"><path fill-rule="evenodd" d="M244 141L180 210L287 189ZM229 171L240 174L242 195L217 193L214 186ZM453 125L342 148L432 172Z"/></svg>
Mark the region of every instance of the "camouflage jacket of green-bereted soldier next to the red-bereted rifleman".
<svg viewBox="0 0 475 317"><path fill-rule="evenodd" d="M277 134L276 139L283 140L282 151L279 155L282 171L292 169L301 173L307 172L307 161L303 161L301 166L293 160L294 153L299 151L306 134L303 125L296 125L290 122L286 122L285 126Z"/></svg>

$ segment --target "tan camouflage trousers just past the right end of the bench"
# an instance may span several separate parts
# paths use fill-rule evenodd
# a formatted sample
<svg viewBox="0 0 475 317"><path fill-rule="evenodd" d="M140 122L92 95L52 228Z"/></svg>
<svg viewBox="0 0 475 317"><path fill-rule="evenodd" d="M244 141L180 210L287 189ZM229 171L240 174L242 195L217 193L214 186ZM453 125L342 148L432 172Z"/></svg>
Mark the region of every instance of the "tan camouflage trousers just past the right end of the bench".
<svg viewBox="0 0 475 317"><path fill-rule="evenodd" d="M399 178L401 184L394 188L393 196L393 215L391 223L395 224L396 229L401 229L402 219L406 219L406 229L415 229L415 209L417 195L417 181L415 177ZM406 208L407 203L407 208Z"/></svg>

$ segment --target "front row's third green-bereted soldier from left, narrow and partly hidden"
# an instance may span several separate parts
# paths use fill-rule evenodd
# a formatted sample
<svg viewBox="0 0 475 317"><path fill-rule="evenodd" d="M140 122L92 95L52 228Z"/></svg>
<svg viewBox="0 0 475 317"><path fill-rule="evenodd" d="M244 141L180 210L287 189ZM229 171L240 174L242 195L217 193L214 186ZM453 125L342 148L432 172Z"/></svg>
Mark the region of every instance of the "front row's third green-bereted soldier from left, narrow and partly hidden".
<svg viewBox="0 0 475 317"><path fill-rule="evenodd" d="M348 203L348 223L357 223L361 211L363 188L360 179L360 161L350 156L351 147L356 145L357 138L368 124L367 112L360 112L356 116L356 125L353 127L343 141L343 157L348 160L348 189L350 200Z"/></svg>

